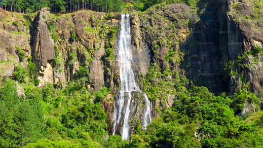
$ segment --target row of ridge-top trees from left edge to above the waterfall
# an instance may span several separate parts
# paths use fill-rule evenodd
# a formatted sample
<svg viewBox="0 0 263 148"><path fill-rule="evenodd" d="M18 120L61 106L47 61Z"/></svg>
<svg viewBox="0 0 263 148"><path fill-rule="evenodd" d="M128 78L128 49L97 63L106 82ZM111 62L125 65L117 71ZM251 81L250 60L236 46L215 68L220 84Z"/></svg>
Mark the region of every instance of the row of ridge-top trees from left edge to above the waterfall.
<svg viewBox="0 0 263 148"><path fill-rule="evenodd" d="M0 0L0 6L7 11L35 12L49 7L54 13L91 9L103 12L118 12L122 0Z"/></svg>

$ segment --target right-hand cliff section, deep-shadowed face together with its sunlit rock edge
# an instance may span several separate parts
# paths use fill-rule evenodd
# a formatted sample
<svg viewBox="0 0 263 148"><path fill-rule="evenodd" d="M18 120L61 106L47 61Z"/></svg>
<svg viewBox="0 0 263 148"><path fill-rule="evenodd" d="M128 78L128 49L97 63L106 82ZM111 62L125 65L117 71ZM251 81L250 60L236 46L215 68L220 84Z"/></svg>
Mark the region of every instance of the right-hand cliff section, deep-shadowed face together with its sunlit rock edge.
<svg viewBox="0 0 263 148"><path fill-rule="evenodd" d="M250 91L262 91L263 28L255 5L253 1L214 1L200 8L199 20L179 43L187 53L181 69L192 84L216 94L232 95L246 83Z"/></svg>

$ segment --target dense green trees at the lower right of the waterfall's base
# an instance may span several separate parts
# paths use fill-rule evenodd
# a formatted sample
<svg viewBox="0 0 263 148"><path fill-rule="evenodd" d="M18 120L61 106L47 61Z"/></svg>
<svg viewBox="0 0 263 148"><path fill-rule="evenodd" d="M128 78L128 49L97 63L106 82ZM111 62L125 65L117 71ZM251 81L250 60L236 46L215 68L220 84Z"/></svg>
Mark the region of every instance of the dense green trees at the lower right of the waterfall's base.
<svg viewBox="0 0 263 148"><path fill-rule="evenodd" d="M239 95L229 98L222 93L220 96L214 96L205 87L185 90L178 95L172 108L159 110L160 117L154 118L146 131L133 135L129 146L130 148L261 147L262 112L256 112L246 120L235 116L238 111L232 105L239 100L236 97ZM253 118L255 115L259 117ZM253 122L248 122L250 119Z"/></svg>

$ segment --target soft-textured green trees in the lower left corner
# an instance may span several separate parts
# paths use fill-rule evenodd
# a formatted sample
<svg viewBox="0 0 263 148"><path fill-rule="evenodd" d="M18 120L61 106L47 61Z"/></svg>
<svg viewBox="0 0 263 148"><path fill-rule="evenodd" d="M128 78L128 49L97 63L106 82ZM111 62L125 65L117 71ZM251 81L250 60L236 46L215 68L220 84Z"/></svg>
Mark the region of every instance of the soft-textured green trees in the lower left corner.
<svg viewBox="0 0 263 148"><path fill-rule="evenodd" d="M0 89L0 146L22 148L44 137L42 95L28 88L19 96L13 80L7 79Z"/></svg>

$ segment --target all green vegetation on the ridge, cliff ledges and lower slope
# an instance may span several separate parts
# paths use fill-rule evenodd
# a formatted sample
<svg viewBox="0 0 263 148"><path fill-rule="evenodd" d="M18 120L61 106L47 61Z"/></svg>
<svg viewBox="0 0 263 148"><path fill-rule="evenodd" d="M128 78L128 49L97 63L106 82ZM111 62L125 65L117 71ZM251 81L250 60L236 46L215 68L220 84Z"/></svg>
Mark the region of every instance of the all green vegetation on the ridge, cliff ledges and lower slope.
<svg viewBox="0 0 263 148"><path fill-rule="evenodd" d="M27 0L30 4L24 3L25 6L21 8L17 4L12 4L11 0L7 0L7 3L2 0L0 3L1 7L5 9L20 12L33 12L42 6L51 7L53 12L75 11L81 8L106 12L120 11L121 0L108 0L107 6L106 1L55 0L50 2L37 0L33 3L31 0ZM152 11L155 8L161 9L162 4L172 2L184 2L195 7L200 1L135 0L131 3L137 10ZM19 2L17 1L17 3ZM153 4L157 5L150 8ZM261 1L254 0L253 4L256 16L261 12L261 9L256 9L260 8ZM55 18L57 15L53 16ZM112 14L106 14L105 17L112 17ZM246 20L252 18L244 17ZM140 74L138 77L142 90L147 93L151 102L156 102L158 107L155 108L155 111L159 116L152 119L145 131L141 130L141 125L137 126L130 141L122 141L118 135L109 136L107 131L107 112L102 109L102 101L106 95L113 93L107 83L111 83L109 77L114 75L111 74L114 59L113 46L119 26L101 23L105 20L96 20L97 24L94 23L94 27L85 24L84 36L94 35L98 37L94 39L97 40L97 43L101 43L101 40L105 42L103 46L105 54L101 56L100 60L105 66L106 84L100 91L89 93L88 89L91 85L88 78L89 64L94 58L94 52L100 50L102 46L97 49L89 46L86 49L84 45L79 45L82 43L80 38L84 37L78 37L80 35L77 35L75 26L71 26L71 34L67 40L70 43L67 46L69 50L68 53L65 52L69 61L63 61L61 50L66 48L66 41L60 38L55 21L50 19L47 20L48 29L55 41L54 71L62 73L64 66L70 69L74 62L80 61L78 58L82 56L81 53L85 56L85 61L82 64L78 63L79 69L71 79L74 82L67 82L64 89L62 89L61 83L47 84L41 88L36 87L39 83L38 71L36 64L32 63L32 58L28 59L26 68L21 64L15 67L12 79L5 77L1 81L0 147L261 148L263 146L263 111L259 111L259 102L262 101L262 97L249 91L250 81L246 80L243 74L238 74L236 67L249 67L250 65L247 65L248 57L252 57L253 62L257 62L259 55L262 55L262 49L253 47L251 51L240 55L237 60L225 64L225 71L231 76L236 76L241 82L241 87L235 94L227 96L222 93L215 96L206 87L189 85L191 82L188 82L188 79L184 77L185 72L177 68L183 61L184 53L180 51L178 41L180 39L175 37L175 35L177 36L175 28L188 28L191 26L191 21L182 20L182 22L180 21L182 24L176 24L177 22L164 19L159 14L154 14L154 18L146 17L145 20L150 19L153 22L168 24L166 27L170 30L165 34L163 28L156 31L154 27L147 26L149 34L156 33L156 38L151 38L153 41L150 50L156 57L153 57L155 58L153 61L157 62L151 63L148 74ZM83 21L83 23L87 22ZM98 24L104 25L99 26ZM14 22L13 25L19 24ZM18 33L13 32L12 34ZM198 44L194 41L190 43L190 46ZM166 55L162 56L162 59L158 55L161 47L167 47ZM12 50L11 47L10 50ZM16 48L16 52L20 61L27 58L22 48ZM165 53L165 51L163 52ZM187 57L186 67L190 68L189 53L185 53L185 57ZM116 76L113 77L113 80L117 81ZM173 104L167 105L169 100L173 100ZM252 112L255 112L247 112L243 116L242 111L248 106L252 108Z"/></svg>

